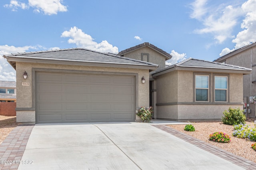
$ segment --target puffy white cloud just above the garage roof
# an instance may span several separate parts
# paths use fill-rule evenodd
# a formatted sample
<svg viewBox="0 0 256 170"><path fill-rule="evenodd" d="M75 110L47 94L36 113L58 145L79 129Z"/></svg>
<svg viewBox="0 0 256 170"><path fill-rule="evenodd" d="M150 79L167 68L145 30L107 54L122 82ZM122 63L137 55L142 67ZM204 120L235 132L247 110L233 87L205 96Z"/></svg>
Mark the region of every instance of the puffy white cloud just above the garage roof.
<svg viewBox="0 0 256 170"><path fill-rule="evenodd" d="M70 39L68 39L68 43L74 43L80 48L91 49L103 53L118 53L118 48L113 47L108 41L104 40L101 43L97 43L90 35L84 33L82 29L75 26L70 28L69 31L64 31L61 37L69 37Z"/></svg>

